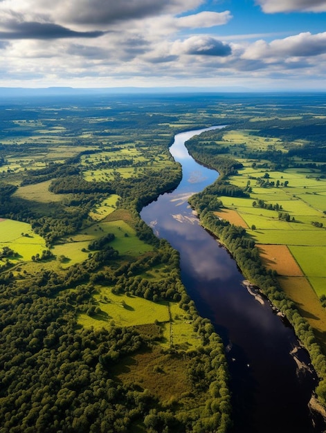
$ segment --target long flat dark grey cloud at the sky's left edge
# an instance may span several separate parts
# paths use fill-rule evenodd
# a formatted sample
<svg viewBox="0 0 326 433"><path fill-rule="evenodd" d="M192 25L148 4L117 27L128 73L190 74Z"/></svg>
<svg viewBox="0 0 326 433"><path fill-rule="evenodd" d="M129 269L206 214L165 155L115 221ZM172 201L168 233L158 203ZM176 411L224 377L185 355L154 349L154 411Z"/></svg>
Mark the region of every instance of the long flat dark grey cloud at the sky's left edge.
<svg viewBox="0 0 326 433"><path fill-rule="evenodd" d="M0 31L0 39L60 39L66 37L100 37L107 32L76 32L52 23L10 23L8 31Z"/></svg>

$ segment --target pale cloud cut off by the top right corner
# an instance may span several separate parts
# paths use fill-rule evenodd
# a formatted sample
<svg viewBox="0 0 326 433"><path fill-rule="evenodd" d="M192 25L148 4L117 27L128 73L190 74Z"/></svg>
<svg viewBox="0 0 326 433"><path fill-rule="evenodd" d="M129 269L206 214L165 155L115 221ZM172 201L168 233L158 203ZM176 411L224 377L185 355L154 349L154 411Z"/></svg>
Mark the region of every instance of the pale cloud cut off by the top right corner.
<svg viewBox="0 0 326 433"><path fill-rule="evenodd" d="M325 0L256 0L266 13L326 12Z"/></svg>

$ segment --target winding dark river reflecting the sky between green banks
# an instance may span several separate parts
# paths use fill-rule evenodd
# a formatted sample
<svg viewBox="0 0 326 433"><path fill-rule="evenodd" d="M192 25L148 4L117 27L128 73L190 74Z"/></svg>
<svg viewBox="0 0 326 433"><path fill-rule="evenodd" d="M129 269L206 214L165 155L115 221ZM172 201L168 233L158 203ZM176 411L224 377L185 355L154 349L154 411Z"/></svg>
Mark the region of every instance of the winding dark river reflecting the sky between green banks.
<svg viewBox="0 0 326 433"><path fill-rule="evenodd" d="M218 176L196 163L184 146L208 129L175 136L170 152L182 165L181 183L143 208L141 217L180 252L183 284L200 315L210 318L224 340L233 395L231 432L319 433L308 409L316 376L298 369L299 361L309 365L307 353L291 326L243 284L233 258L199 225L188 205L189 196Z"/></svg>

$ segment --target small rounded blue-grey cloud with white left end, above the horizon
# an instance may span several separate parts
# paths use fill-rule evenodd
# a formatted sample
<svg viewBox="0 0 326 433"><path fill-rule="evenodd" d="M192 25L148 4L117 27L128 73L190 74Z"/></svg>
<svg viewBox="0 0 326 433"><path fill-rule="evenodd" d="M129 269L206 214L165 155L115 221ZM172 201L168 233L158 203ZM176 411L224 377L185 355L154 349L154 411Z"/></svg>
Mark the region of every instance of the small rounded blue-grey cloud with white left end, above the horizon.
<svg viewBox="0 0 326 433"><path fill-rule="evenodd" d="M185 39L185 41L176 42L174 44L174 52L179 52L180 54L224 57L230 55L232 49L230 45L219 41L219 39L204 35L192 36Z"/></svg>

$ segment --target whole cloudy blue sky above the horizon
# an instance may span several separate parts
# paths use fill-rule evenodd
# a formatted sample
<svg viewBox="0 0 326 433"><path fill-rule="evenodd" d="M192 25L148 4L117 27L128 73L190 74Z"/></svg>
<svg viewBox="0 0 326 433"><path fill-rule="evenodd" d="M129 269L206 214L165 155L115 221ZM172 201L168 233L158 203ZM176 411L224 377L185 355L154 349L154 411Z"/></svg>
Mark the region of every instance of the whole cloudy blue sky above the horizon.
<svg viewBox="0 0 326 433"><path fill-rule="evenodd" d="M326 91L326 0L0 0L0 86Z"/></svg>

